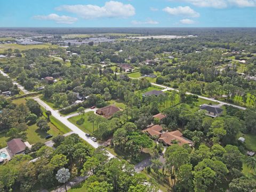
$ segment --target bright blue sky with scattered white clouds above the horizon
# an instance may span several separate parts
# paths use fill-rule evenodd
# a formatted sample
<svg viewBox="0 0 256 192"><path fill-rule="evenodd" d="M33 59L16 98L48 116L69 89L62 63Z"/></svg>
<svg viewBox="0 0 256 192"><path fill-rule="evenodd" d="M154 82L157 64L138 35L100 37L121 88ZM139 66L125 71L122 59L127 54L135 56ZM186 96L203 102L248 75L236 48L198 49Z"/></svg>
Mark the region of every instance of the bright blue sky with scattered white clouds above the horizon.
<svg viewBox="0 0 256 192"><path fill-rule="evenodd" d="M0 0L0 27L256 27L256 0Z"/></svg>

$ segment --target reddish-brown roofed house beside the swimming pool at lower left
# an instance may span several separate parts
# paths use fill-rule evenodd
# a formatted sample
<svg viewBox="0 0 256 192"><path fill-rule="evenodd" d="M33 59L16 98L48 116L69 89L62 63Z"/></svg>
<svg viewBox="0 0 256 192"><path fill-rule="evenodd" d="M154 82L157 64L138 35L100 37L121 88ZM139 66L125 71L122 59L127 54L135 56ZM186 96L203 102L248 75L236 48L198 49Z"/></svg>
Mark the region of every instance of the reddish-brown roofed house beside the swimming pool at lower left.
<svg viewBox="0 0 256 192"><path fill-rule="evenodd" d="M28 142L23 142L21 138L12 139L7 142L7 147L9 149L9 153L11 156L24 154L26 147L31 147Z"/></svg>

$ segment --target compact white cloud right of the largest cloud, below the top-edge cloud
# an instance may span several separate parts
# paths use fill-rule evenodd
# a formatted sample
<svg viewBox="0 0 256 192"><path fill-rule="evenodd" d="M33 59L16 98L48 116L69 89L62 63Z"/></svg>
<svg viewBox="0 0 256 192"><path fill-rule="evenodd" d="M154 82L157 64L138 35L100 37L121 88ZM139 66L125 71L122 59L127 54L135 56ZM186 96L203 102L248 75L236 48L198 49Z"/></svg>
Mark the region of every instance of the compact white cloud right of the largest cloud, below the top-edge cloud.
<svg viewBox="0 0 256 192"><path fill-rule="evenodd" d="M178 6L178 7L165 7L163 11L171 15L182 15L184 17L199 17L200 14L191 9L189 6Z"/></svg>

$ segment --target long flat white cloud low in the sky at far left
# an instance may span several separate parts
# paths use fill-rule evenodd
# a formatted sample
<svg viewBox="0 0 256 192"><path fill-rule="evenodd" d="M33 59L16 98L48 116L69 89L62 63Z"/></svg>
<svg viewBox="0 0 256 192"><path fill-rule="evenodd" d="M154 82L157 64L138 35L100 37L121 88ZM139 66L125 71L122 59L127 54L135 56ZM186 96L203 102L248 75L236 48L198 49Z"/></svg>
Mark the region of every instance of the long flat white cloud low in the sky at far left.
<svg viewBox="0 0 256 192"><path fill-rule="evenodd" d="M56 23L62 23L62 24L72 24L77 21L77 18L69 17L69 16L59 16L58 14L49 14L49 15L36 15L33 17L34 19L38 20L52 20Z"/></svg>

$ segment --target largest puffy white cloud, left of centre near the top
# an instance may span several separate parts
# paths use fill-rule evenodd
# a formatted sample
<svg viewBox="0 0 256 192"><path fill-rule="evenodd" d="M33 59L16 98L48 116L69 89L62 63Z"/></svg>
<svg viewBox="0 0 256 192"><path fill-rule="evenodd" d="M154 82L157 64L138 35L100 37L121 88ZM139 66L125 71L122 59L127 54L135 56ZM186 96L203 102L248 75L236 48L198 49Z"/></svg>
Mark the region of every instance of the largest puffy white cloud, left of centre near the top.
<svg viewBox="0 0 256 192"><path fill-rule="evenodd" d="M84 19L94 18L127 18L135 14L135 8L131 4L123 4L117 1L106 2L104 6L98 5L61 5L58 11L75 13Z"/></svg>

